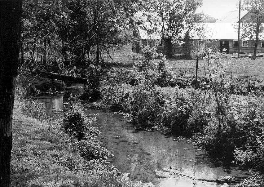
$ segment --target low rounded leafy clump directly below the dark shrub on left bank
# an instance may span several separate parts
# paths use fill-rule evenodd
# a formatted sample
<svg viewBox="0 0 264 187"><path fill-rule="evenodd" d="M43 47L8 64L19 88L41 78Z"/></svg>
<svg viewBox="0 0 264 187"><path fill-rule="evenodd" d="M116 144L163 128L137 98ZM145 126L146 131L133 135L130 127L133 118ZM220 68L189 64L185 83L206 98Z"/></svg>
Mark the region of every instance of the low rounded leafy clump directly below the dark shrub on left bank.
<svg viewBox="0 0 264 187"><path fill-rule="evenodd" d="M113 156L109 150L101 147L101 142L95 138L77 141L73 144L73 147L76 147L81 157L87 160L103 161Z"/></svg>

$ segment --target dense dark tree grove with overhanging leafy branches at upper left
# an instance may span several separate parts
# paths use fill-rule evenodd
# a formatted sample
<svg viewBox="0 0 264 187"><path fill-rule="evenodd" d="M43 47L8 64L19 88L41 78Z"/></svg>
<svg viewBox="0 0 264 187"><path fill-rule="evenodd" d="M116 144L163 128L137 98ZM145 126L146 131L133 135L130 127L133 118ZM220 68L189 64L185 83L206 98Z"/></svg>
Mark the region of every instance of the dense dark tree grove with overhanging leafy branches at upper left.
<svg viewBox="0 0 264 187"><path fill-rule="evenodd" d="M129 29L147 29L153 24L144 14L139 20L141 1L24 1L20 48L41 49L47 71L70 73L75 65L96 66L103 62L103 53L130 42ZM148 32L155 32L155 24ZM110 54L109 54L110 56Z"/></svg>

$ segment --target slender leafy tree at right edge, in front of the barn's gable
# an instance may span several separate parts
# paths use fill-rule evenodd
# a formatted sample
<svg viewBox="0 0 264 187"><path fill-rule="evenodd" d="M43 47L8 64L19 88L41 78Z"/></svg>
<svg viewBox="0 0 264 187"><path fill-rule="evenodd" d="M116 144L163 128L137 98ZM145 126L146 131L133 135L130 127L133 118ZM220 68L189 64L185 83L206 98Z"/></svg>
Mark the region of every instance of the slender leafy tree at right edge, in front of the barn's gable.
<svg viewBox="0 0 264 187"><path fill-rule="evenodd" d="M255 41L253 56L256 56L257 45L260 43L259 33L263 32L264 2L262 0L243 1L241 9L248 11L248 15L241 20L241 38Z"/></svg>

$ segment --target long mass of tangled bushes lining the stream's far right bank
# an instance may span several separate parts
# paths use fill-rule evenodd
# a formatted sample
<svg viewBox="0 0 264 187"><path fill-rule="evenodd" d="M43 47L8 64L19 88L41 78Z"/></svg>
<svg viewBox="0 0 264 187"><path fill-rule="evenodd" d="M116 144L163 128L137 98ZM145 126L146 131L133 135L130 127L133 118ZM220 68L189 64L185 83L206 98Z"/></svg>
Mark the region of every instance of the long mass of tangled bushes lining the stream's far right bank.
<svg viewBox="0 0 264 187"><path fill-rule="evenodd" d="M210 53L207 61L214 73L201 79L196 89L187 81L166 91L158 86L180 79L172 78L168 67L161 65L165 58L154 64L156 56L153 48L143 49L135 65L134 86L103 82L100 103L130 116L135 127L189 137L215 157L263 171L263 80L226 75L228 63L222 63L226 57ZM112 77L118 79L117 74Z"/></svg>

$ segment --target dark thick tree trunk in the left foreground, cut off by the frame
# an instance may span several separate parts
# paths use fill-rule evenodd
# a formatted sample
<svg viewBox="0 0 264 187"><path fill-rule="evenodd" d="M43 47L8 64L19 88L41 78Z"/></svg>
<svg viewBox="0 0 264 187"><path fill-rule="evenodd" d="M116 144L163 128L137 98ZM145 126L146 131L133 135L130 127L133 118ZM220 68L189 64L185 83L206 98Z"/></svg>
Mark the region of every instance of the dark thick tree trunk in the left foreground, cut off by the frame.
<svg viewBox="0 0 264 187"><path fill-rule="evenodd" d="M22 1L0 1L0 186L10 185L12 114Z"/></svg>

